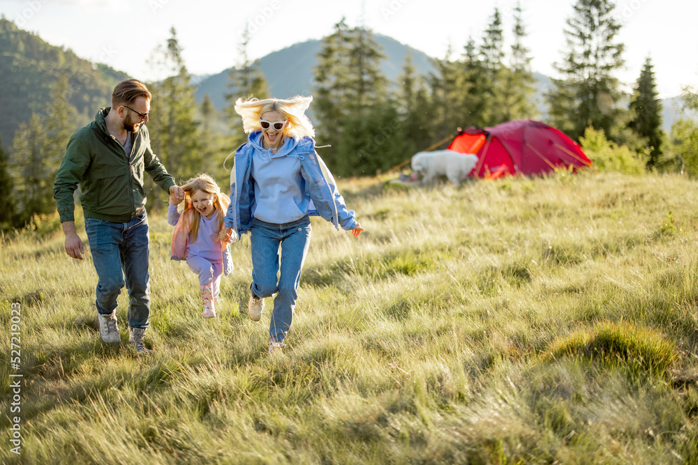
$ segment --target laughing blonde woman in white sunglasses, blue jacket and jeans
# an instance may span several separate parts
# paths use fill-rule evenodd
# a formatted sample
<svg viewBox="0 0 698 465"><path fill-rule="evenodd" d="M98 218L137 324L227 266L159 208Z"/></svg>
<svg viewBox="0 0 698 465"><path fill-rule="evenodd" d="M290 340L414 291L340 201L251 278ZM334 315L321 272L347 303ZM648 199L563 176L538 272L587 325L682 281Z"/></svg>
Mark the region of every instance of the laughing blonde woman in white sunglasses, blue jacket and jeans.
<svg viewBox="0 0 698 465"><path fill-rule="evenodd" d="M276 294L269 325L269 351L280 351L288 335L308 245L309 216L334 227L364 229L347 211L332 174L315 152L315 130L305 116L312 97L235 102L248 142L235 152L230 173L230 206L221 238L237 241L251 232L252 284L249 317L259 321L264 298ZM281 248L281 250L279 250ZM280 253L281 252L281 253ZM276 273L281 270L279 279Z"/></svg>

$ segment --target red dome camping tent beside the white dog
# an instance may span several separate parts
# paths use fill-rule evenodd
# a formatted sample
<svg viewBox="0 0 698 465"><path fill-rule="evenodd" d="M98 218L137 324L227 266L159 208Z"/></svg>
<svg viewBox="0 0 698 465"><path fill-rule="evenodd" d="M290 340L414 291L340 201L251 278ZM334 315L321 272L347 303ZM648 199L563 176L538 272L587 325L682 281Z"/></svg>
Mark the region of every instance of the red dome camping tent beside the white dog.
<svg viewBox="0 0 698 465"><path fill-rule="evenodd" d="M590 167L589 160L575 143L549 125L523 119L493 128L471 126L453 139L448 148L477 155L470 176L497 177L502 174L542 174L557 167Z"/></svg>

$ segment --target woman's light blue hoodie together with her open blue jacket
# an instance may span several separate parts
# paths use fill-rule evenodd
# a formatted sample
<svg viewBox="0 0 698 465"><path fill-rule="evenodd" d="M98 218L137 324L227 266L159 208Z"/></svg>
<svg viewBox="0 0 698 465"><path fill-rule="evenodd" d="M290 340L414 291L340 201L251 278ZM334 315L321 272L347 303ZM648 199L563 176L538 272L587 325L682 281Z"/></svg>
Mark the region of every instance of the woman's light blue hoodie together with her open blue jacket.
<svg viewBox="0 0 698 465"><path fill-rule="evenodd" d="M258 178L251 176L253 171ZM347 211L332 174L315 152L313 139L287 137L272 155L262 147L262 132L252 132L249 142L235 152L225 227L234 229L239 237L250 231L253 216L282 224L306 214L320 216L337 229L356 227L355 213Z"/></svg>

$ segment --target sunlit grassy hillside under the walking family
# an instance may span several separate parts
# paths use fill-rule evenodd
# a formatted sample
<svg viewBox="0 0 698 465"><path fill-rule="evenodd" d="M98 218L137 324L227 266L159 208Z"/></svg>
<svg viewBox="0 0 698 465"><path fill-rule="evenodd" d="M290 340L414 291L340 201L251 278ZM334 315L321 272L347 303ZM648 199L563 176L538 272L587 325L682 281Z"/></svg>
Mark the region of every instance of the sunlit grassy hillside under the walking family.
<svg viewBox="0 0 698 465"><path fill-rule="evenodd" d="M61 236L0 250L20 303L22 457L2 463L698 462L698 185L614 174L459 188L341 183L313 220L284 356L244 314L248 242L213 321L151 218L149 344L98 342L96 275ZM84 233L81 233L84 238ZM271 299L269 302L271 303ZM1 365L1 427L13 394ZM7 436L6 436L7 437Z"/></svg>

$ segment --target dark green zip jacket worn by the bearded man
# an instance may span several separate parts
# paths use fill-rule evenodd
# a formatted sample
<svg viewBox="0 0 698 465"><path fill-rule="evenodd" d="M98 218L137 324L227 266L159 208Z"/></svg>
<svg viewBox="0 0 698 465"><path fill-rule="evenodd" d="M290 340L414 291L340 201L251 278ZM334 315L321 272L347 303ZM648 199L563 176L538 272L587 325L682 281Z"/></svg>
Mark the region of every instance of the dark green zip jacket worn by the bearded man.
<svg viewBox="0 0 698 465"><path fill-rule="evenodd" d="M174 185L174 179L150 148L148 128L142 125L133 133L128 157L107 130L105 116L109 110L100 109L95 121L70 137L53 185L61 222L75 220L73 192L78 184L84 217L117 223L131 221L143 211L144 171L164 190Z"/></svg>

